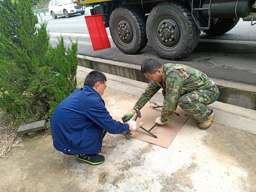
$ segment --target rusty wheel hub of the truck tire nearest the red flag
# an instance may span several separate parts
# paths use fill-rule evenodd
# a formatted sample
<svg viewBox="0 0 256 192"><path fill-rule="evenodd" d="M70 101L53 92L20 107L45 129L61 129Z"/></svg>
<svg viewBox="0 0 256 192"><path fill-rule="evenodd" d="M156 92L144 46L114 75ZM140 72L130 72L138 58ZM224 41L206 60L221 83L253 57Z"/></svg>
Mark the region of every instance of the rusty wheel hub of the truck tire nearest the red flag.
<svg viewBox="0 0 256 192"><path fill-rule="evenodd" d="M121 40L123 43L128 44L132 41L133 31L128 21L120 20L117 24L117 31L119 40Z"/></svg>

